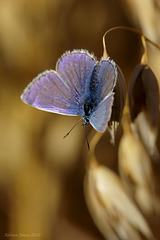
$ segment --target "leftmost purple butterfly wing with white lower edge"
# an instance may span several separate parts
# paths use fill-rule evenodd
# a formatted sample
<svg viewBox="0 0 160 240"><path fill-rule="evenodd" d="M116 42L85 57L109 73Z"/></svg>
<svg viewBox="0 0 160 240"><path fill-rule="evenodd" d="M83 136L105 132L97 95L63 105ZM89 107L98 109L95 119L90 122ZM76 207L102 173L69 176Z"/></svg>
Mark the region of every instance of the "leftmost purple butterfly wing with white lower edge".
<svg viewBox="0 0 160 240"><path fill-rule="evenodd" d="M39 74L24 90L21 99L44 111L80 115L80 104L68 84L54 71Z"/></svg>

